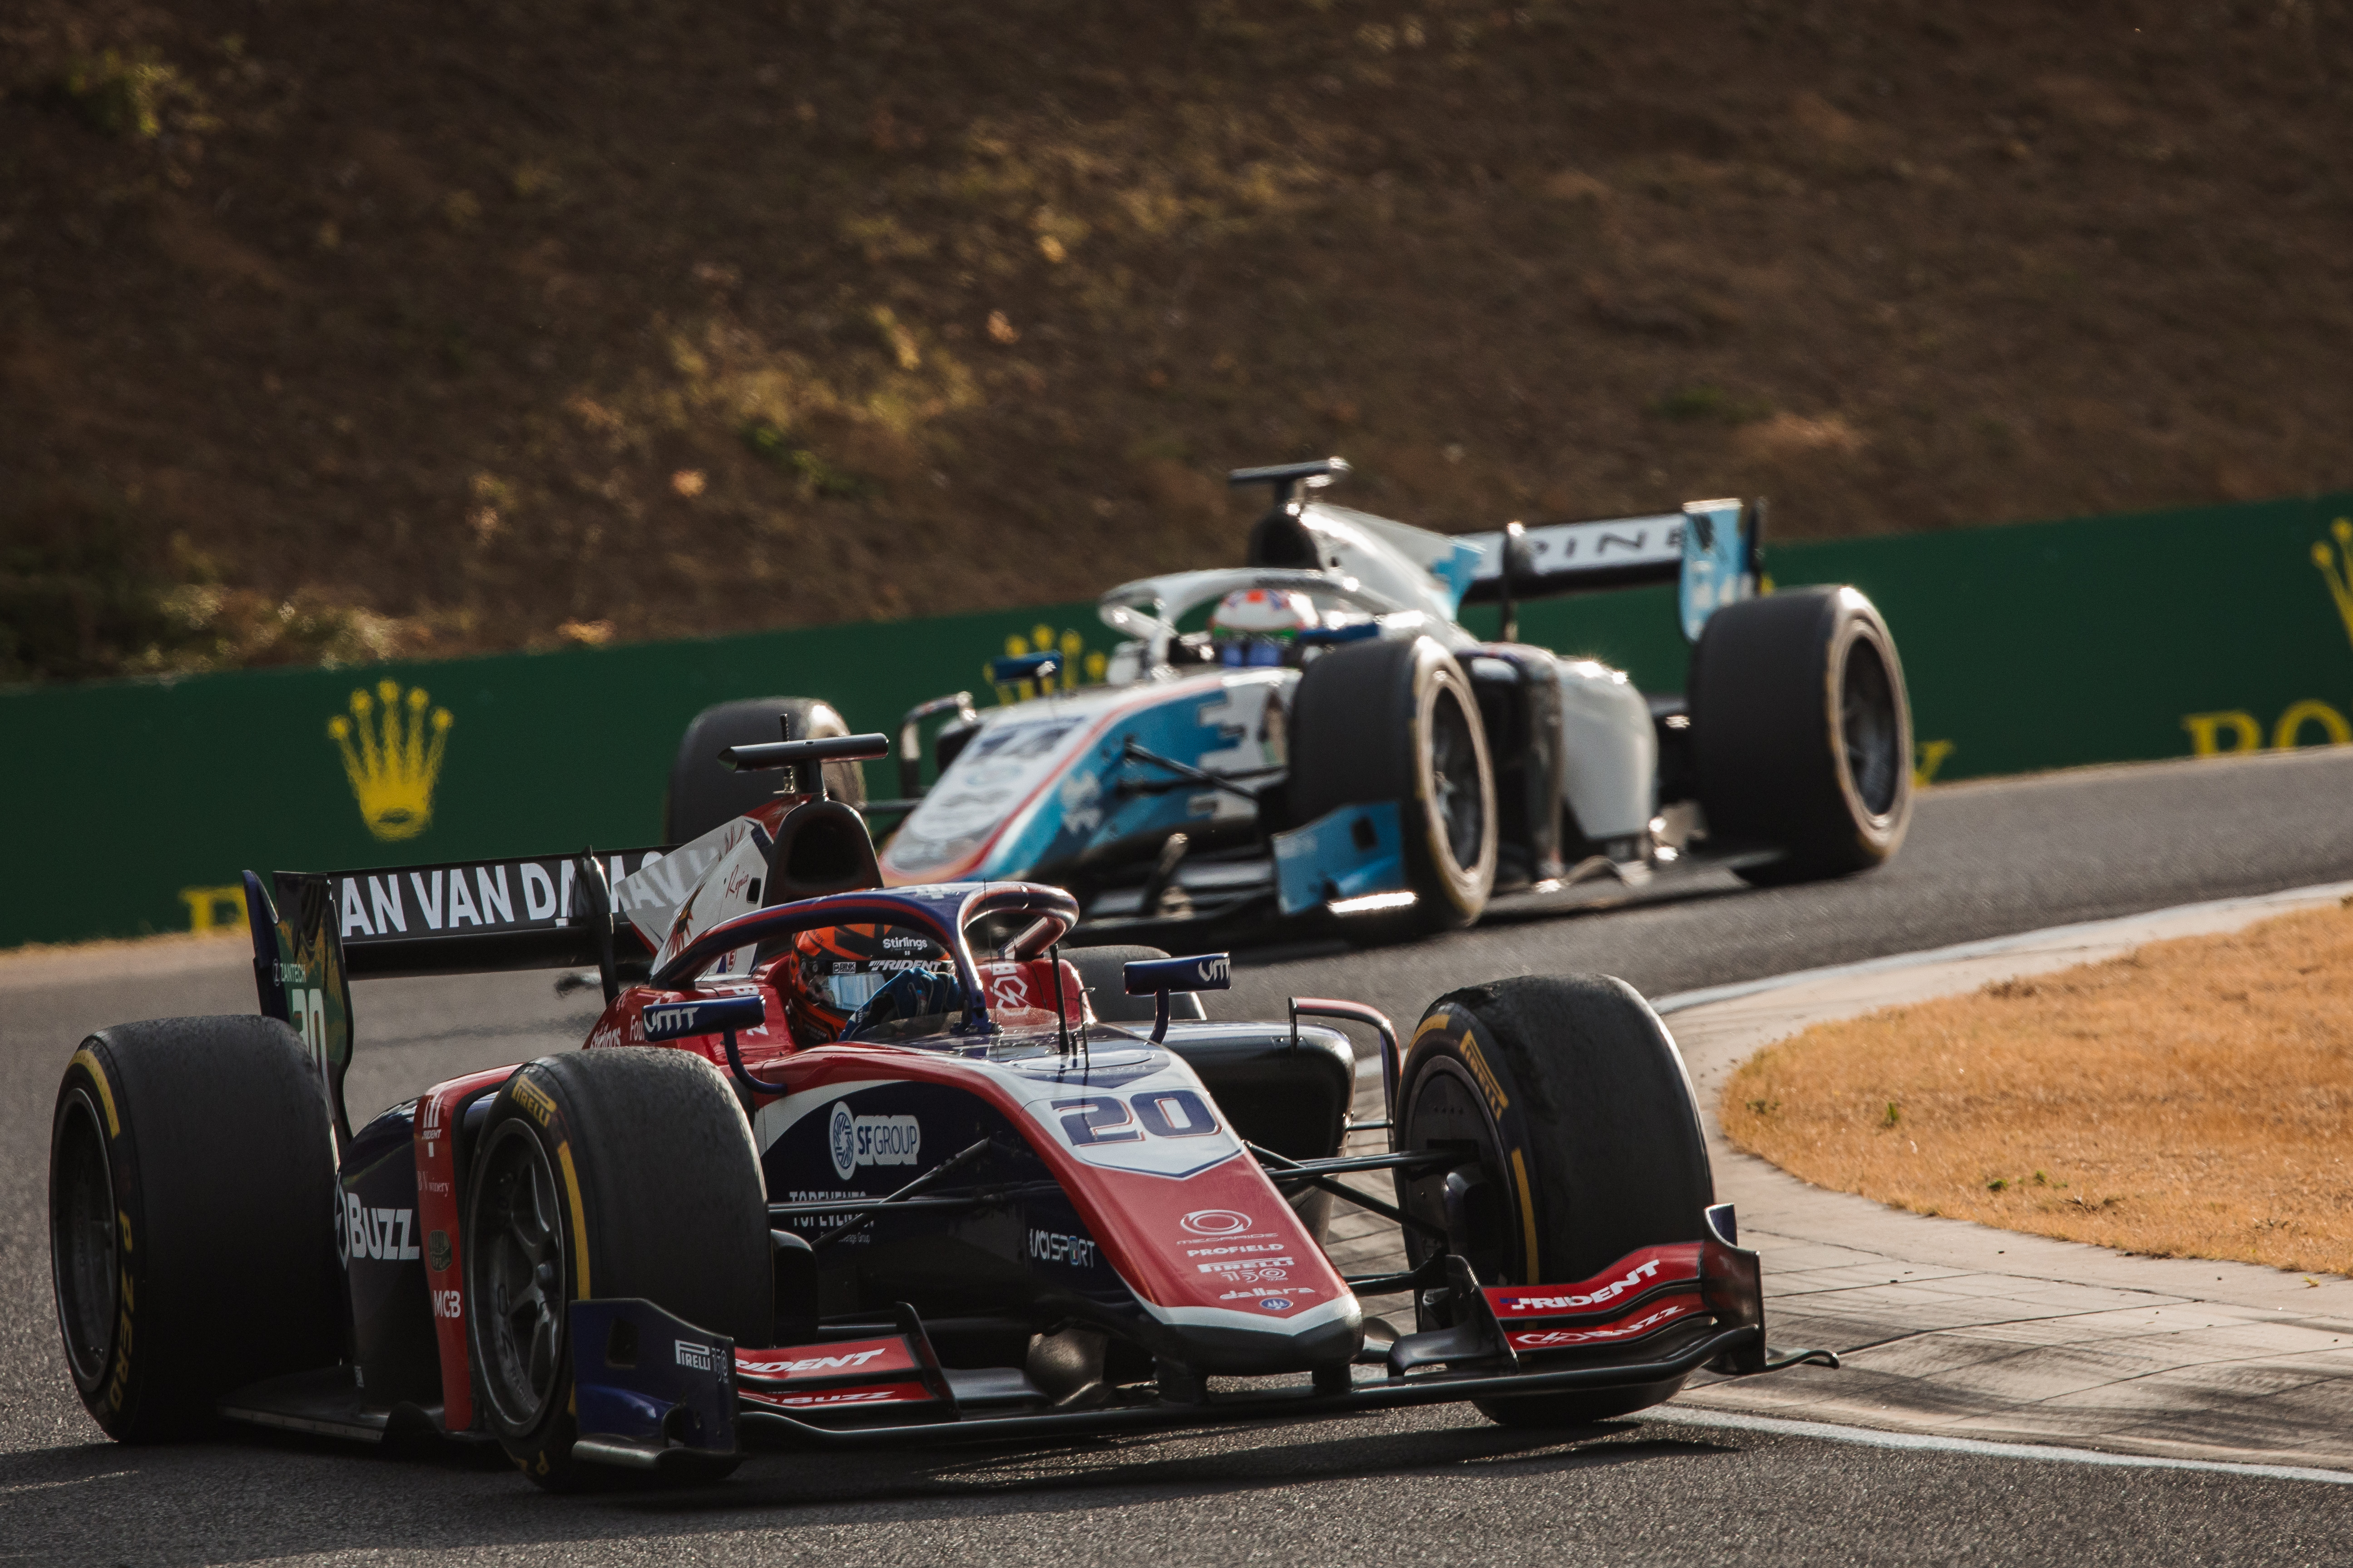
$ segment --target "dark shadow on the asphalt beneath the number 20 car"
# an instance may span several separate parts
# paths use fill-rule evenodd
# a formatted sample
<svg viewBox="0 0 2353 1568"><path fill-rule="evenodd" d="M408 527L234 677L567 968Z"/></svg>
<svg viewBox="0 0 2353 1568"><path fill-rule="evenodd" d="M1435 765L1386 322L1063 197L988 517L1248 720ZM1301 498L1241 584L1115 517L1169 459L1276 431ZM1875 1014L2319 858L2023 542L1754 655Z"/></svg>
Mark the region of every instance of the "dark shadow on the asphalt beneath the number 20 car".
<svg viewBox="0 0 2353 1568"><path fill-rule="evenodd" d="M1367 1429L1379 1420L1381 1429ZM1421 1418L1428 1420L1428 1418ZM299 1434L207 1443L75 1443L0 1458L5 1552L38 1561L202 1563L306 1552L689 1540L845 1516L932 1523L1247 1497L1384 1476L1569 1476L1732 1458L1737 1441L1640 1420L1555 1432L1466 1425L1287 1422L1054 1446L873 1453L769 1450L694 1488L551 1495L494 1448L351 1448ZM765 1519L760 1519L765 1516Z"/></svg>

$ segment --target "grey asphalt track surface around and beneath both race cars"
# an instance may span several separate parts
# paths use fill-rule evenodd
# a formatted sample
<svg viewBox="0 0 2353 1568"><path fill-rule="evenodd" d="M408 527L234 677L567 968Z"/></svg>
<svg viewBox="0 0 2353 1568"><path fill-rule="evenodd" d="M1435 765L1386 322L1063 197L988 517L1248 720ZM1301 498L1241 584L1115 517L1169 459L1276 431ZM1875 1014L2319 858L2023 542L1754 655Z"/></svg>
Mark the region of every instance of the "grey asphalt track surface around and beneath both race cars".
<svg viewBox="0 0 2353 1568"><path fill-rule="evenodd" d="M1388 950L1240 954L1221 1016L1358 997L1409 1023L1452 985L1600 969L1649 994L2104 914L2353 877L2353 752L1958 785L1887 870L1506 919ZM0 964L0 1561L280 1556L567 1563L2341 1563L2353 1488L1885 1450L1631 1418L1511 1432L1468 1408L1200 1434L772 1453L713 1488L548 1497L478 1458L231 1436L118 1448L73 1396L49 1307L56 1077L89 1027L249 1011L233 954ZM355 992L353 1112L576 1046L546 976ZM254 1128L221 1128L224 1138ZM233 1246L233 1218L224 1246Z"/></svg>

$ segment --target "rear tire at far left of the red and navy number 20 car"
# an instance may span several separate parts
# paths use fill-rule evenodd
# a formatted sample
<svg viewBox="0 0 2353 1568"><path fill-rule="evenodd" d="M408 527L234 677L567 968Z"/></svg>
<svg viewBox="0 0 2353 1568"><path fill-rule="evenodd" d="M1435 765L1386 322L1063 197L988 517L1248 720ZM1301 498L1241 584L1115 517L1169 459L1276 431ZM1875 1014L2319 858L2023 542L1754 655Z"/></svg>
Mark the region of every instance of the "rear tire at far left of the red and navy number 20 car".
<svg viewBox="0 0 2353 1568"><path fill-rule="evenodd" d="M106 1436L207 1432L235 1387L344 1356L334 1128L275 1018L99 1030L49 1121L66 1366Z"/></svg>

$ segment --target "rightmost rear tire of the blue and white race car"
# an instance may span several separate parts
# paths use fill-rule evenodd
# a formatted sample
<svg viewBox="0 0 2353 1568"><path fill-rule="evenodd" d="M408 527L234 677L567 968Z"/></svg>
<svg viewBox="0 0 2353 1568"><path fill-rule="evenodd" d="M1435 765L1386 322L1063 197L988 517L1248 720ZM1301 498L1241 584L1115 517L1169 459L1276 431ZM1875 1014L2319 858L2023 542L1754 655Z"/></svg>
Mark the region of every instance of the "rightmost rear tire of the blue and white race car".
<svg viewBox="0 0 2353 1568"><path fill-rule="evenodd" d="M1692 651L1692 766L1708 837L1779 849L1755 884L1847 877L1911 825L1911 698L1880 611L1793 588L1708 616Z"/></svg>

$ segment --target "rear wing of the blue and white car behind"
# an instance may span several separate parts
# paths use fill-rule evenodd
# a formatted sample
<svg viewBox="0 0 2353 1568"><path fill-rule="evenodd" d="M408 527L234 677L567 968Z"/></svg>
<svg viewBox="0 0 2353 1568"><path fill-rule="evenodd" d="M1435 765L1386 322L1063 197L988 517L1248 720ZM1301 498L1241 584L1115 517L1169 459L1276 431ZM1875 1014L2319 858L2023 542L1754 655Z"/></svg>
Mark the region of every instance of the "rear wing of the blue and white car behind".
<svg viewBox="0 0 2353 1568"><path fill-rule="evenodd" d="M1689 501L1654 517L1461 534L1457 541L1480 552L1464 599L1499 602L1508 621L1515 599L1678 583L1682 635L1699 642L1708 616L1755 597L1762 534L1762 501Z"/></svg>

